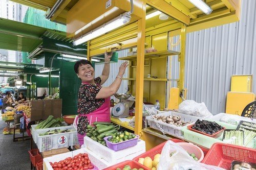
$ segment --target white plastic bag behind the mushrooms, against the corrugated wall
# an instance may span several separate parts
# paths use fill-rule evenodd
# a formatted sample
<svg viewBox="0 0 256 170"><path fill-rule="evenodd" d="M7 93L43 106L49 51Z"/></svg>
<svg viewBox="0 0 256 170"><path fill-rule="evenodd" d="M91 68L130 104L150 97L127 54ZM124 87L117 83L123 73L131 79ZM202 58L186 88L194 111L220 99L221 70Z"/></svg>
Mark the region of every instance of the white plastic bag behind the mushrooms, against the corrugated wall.
<svg viewBox="0 0 256 170"><path fill-rule="evenodd" d="M209 112L204 103L197 103L192 100L183 101L179 105L179 112L202 118L212 117L212 114Z"/></svg>

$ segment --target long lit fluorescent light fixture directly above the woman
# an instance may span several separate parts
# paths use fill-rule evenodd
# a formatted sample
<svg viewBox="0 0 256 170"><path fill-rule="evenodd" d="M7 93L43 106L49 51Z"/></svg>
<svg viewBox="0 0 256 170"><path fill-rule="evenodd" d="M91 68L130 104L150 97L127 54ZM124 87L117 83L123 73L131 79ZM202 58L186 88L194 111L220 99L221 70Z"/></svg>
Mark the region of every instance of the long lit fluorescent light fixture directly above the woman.
<svg viewBox="0 0 256 170"><path fill-rule="evenodd" d="M112 30L115 30L123 25L125 25L125 23L130 22L131 20L131 15L130 13L123 13L122 15L110 20L109 22L104 23L102 26L90 31L87 34L84 34L83 36L79 37L78 39L76 39L73 44L74 45L79 45L82 44L84 42L87 42L91 39L94 39L96 37L99 37L107 32L110 32Z"/></svg>

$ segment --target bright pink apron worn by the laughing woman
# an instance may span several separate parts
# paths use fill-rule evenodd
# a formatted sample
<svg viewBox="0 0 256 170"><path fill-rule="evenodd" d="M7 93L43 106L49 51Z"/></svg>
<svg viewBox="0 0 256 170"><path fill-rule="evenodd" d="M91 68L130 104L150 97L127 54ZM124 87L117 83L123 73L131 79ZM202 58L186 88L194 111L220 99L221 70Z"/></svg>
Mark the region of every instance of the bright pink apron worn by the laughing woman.
<svg viewBox="0 0 256 170"><path fill-rule="evenodd" d="M82 82L83 84L87 84ZM94 122L110 122L110 97L105 98L105 102L102 104L102 106L95 111L89 113L89 114L79 114L78 118L80 116L87 116L89 120L89 125L93 124ZM78 118L76 119L76 124L78 123ZM79 134L78 135L78 140L80 145L83 144L83 137L86 136L86 133Z"/></svg>

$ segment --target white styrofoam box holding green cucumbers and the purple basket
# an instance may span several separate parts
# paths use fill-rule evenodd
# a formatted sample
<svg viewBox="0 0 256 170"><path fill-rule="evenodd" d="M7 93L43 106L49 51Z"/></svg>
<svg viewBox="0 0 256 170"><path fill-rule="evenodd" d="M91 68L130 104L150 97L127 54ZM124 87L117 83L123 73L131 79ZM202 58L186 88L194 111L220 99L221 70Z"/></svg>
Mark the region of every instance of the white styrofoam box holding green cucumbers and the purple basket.
<svg viewBox="0 0 256 170"><path fill-rule="evenodd" d="M108 147L92 140L90 137L84 137L84 147L93 151L99 158L104 159L111 165L117 164L125 160L132 160L136 156L146 152L145 141L138 139L137 145L121 151L113 151Z"/></svg>

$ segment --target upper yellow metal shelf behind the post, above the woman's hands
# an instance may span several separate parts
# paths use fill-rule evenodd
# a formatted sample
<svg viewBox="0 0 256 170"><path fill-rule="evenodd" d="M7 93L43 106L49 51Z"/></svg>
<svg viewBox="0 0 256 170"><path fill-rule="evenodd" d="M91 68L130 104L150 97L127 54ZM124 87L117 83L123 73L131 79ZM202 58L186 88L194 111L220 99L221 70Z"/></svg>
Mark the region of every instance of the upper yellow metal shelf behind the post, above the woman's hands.
<svg viewBox="0 0 256 170"><path fill-rule="evenodd" d="M172 50L165 50L160 52L152 52L152 53L145 53L145 59L146 58L157 58L162 56L174 56L174 55L180 55L180 52L175 52ZM127 56L119 58L119 60L134 60L137 58L137 55L134 56Z"/></svg>

